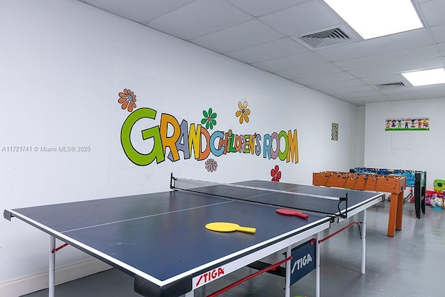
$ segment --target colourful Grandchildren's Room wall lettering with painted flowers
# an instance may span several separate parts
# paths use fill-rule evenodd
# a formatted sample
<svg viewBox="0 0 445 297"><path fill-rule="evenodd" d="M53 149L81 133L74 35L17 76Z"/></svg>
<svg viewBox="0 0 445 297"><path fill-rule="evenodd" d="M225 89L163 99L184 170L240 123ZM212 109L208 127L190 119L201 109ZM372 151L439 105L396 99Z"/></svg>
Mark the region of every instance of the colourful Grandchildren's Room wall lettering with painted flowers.
<svg viewBox="0 0 445 297"><path fill-rule="evenodd" d="M146 125L147 120L156 120L157 111L148 107L133 110L136 108L136 95L129 89L124 89L119 96L118 102L122 104L122 109L130 112L120 131L122 149L128 159L138 166L147 166L154 161L161 163L165 158L172 162L179 161L179 152L182 152L183 159L207 160L205 168L208 172L214 172L218 167L215 159L209 158L211 155L218 157L242 153L298 163L297 129L263 136L257 133L236 134L232 129L210 133L209 129L216 126L217 114L209 108L202 111L204 118L201 124L189 124L187 120L179 121L173 115L162 113L159 125L136 130L133 127L138 121L143 120ZM235 115L240 118L241 124L249 121L250 110L247 106L248 102L238 102L240 110ZM137 134L140 138L134 137ZM276 175L277 179L281 178L281 172L277 171Z"/></svg>

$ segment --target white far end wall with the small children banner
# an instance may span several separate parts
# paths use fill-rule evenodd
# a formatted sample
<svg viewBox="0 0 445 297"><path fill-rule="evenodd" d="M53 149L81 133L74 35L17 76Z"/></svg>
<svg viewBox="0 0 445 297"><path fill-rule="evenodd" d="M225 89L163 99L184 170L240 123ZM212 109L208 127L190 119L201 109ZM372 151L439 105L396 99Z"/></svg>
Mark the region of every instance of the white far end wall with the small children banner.
<svg viewBox="0 0 445 297"><path fill-rule="evenodd" d="M427 188L434 179L445 179L445 99L409 100L366 104L364 166L426 170ZM430 118L430 131L385 131L387 118ZM408 134L411 150L391 149L391 139Z"/></svg>

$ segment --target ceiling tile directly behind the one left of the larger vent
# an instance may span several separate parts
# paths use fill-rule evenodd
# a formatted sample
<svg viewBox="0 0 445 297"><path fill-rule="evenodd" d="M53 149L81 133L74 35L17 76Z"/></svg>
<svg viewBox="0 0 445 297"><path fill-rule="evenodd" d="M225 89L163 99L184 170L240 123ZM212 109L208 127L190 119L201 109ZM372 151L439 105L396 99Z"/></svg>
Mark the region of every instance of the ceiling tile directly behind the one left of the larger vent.
<svg viewBox="0 0 445 297"><path fill-rule="evenodd" d="M308 65L316 65L325 63L323 58L320 58L312 51L307 51L303 54L288 56L284 58L277 58L274 60L253 63L252 66L258 67L262 70L267 70L269 72L277 72L282 70L289 70L296 67L305 67Z"/></svg>

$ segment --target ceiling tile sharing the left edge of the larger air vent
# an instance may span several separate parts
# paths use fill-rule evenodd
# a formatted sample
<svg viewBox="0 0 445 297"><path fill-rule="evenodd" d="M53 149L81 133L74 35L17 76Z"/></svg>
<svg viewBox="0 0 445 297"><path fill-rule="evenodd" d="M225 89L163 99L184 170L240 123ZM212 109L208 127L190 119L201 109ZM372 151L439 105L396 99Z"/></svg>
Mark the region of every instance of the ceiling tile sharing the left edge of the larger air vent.
<svg viewBox="0 0 445 297"><path fill-rule="evenodd" d="M309 49L300 45L300 43L295 40L292 40L291 38L280 38L262 43L261 45L254 45L253 47L230 51L225 55L250 64L301 54L305 51L309 51Z"/></svg>

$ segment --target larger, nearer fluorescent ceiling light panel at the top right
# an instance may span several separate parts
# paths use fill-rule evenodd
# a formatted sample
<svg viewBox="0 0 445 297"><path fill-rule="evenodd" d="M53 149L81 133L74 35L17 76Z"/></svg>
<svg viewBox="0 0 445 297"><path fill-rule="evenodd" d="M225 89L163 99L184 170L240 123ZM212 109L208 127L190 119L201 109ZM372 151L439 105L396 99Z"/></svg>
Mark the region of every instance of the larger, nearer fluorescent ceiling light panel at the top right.
<svg viewBox="0 0 445 297"><path fill-rule="evenodd" d="M423 27L411 0L324 0L364 39Z"/></svg>

